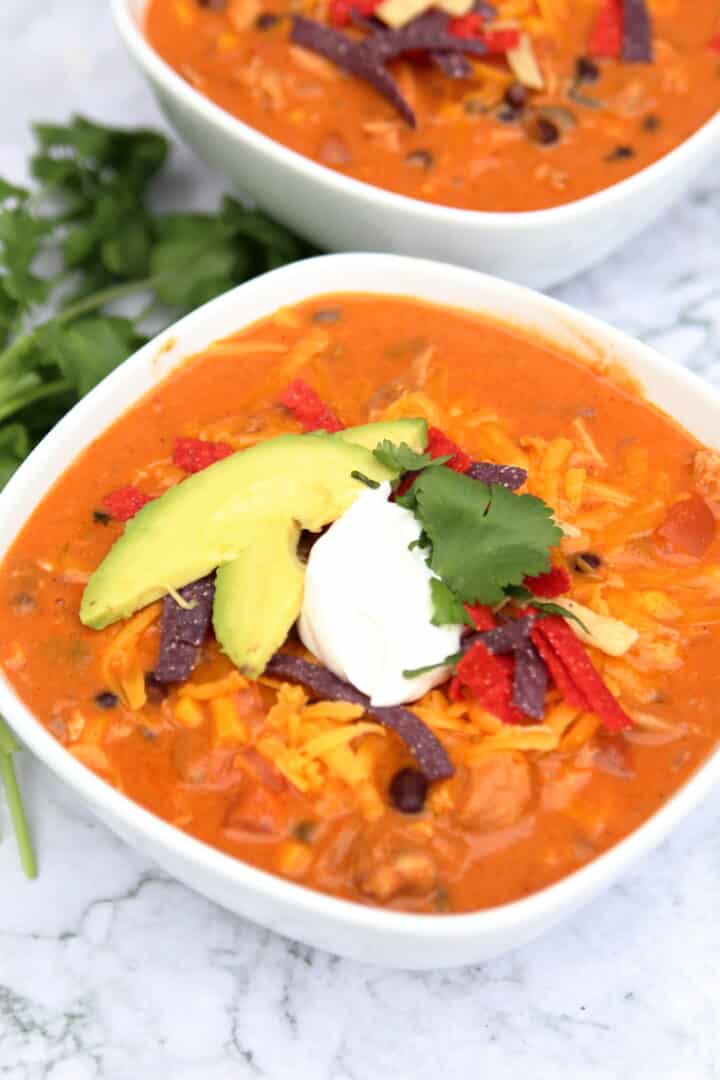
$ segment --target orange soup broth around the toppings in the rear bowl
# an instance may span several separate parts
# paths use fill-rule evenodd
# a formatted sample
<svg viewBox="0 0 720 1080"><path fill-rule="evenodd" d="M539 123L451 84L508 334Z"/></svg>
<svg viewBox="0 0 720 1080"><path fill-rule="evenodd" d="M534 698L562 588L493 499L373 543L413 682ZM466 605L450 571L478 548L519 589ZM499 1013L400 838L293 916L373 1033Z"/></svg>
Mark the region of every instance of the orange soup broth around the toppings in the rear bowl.
<svg viewBox="0 0 720 1080"><path fill-rule="evenodd" d="M553 25L540 14L547 6ZM146 32L201 94L307 158L426 202L532 211L631 176L720 107L720 53L708 48L720 30L717 3L650 0L654 63L601 60L598 80L578 87L575 65L598 6L597 0L498 4L501 17L505 9L513 15L527 9L545 77L519 117L508 117L503 104L513 82L504 63L481 59L472 79L452 80L432 65L397 62L393 71L417 113L415 131L367 83L290 44L290 14L322 21L323 3L229 0L216 12L194 0L151 0ZM282 17L258 29L256 18L268 12ZM548 108L560 138L543 146L528 132L538 110Z"/></svg>

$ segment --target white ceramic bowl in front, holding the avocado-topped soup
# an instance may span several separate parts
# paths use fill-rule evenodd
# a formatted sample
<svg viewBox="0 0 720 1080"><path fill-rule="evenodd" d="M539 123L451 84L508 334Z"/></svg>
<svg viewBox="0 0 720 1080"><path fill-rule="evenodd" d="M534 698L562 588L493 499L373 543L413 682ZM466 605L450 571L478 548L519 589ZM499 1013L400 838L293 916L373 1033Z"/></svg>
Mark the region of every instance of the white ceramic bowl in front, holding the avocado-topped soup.
<svg viewBox="0 0 720 1080"><path fill-rule="evenodd" d="M0 559L38 501L76 457L186 356L281 306L338 289L394 293L487 312L560 349L580 355L597 356L598 351L611 355L639 379L651 401L704 443L718 444L717 391L588 315L522 286L444 264L392 255L329 255L275 270L205 305L136 352L80 402L0 495ZM336 900L254 869L142 810L68 754L1 674L0 712L27 746L110 828L186 885L288 937L402 968L473 963L534 937L654 848L720 775L716 753L631 836L526 900L474 915L404 915ZM43 888L42 878L38 888Z"/></svg>

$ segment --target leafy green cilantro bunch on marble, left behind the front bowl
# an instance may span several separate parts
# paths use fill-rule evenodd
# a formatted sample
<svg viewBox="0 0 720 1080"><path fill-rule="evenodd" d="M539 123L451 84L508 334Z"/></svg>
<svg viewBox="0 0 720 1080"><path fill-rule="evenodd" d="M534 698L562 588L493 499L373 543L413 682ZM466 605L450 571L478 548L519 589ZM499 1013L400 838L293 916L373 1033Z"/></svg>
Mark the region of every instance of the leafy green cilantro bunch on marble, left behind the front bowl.
<svg viewBox="0 0 720 1080"><path fill-rule="evenodd" d="M234 199L214 214L157 213L168 156L157 132L82 117L33 131L33 189L0 178L0 488L146 328L309 254Z"/></svg>

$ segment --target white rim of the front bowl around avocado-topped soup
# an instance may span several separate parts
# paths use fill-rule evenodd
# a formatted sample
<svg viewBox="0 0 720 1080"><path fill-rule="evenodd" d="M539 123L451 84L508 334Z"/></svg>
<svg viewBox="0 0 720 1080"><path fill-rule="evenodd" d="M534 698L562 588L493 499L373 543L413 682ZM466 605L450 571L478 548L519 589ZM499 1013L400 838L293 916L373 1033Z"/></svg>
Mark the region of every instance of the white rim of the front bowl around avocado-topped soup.
<svg viewBox="0 0 720 1080"><path fill-rule="evenodd" d="M405 275L412 278L416 273L426 273L441 274L445 280L450 275L452 281L472 285L480 296L484 288L495 291L502 297L517 301L518 306L521 306L524 299L531 299L536 309L540 308L542 311L557 316L559 325L569 326L578 330L584 340L593 341L594 337L599 334L600 338L604 339L608 342L608 347L612 349L613 359L620 357L621 363L623 352L626 352L628 355L635 354L636 357L640 356L642 359L642 363L649 369L663 376L675 386L684 386L691 393L698 396L702 394L706 402L710 402L711 407L720 416L720 391L716 390L699 376L688 368L680 367L657 353L654 349L613 328L601 320L580 312L569 305L547 297L535 289L530 289L490 274L480 273L479 271L452 267L430 259L411 258L409 256L368 253L316 256L252 279L231 289L229 293L208 301L190 314L185 315L137 350L137 352L130 356L120 367L116 368L114 372L107 376L85 397L78 402L32 450L4 490L0 492L1 521L5 515L10 515L13 502L16 498L22 499L27 489L36 490L39 486L42 489L42 495L38 499L33 499L32 505L21 513L19 521L13 527L6 542L3 542L0 538L0 564L14 543L17 535L31 517L38 503L42 501L46 492L56 483L56 480L52 480L51 482L44 480L44 470L46 465L52 467L56 444L59 443L62 445L66 429L74 429L76 431L89 430L90 433L83 434L77 441L73 457L65 465L57 478L63 475L72 461L77 460L99 437L99 434L107 430L128 408L132 408L133 404L149 392L146 389L135 393L133 401L125 408L121 409L117 416L111 416L103 424L99 429L99 434L93 431L92 424L86 423L96 413L103 413L105 404L111 401L116 388L120 388L125 381L130 381L130 374L134 368L140 369L141 365L147 361L155 364L159 355L166 353L168 342L179 341L179 356L177 361L173 361L169 368L169 372L174 370L177 364L196 351L190 347L182 347L184 335L189 334L195 323L202 324L203 321L208 321L215 310L219 312L218 322L223 322L225 316L222 311L225 307L229 302L232 302L234 306L234 301L243 293L252 296L254 289L259 292L261 284L263 286L267 283L276 285L279 295L282 295L283 286L289 284L291 287L293 283L297 281L301 286L298 292L304 300L313 296L327 295L327 287L317 284L313 285L312 279L314 270L327 269L328 267L332 271L331 280L338 282L344 282L348 272L352 268L359 267L359 269L371 271L372 281L378 282L378 287L367 288L363 286L363 289L359 287L344 289L344 292L350 293L362 291L370 294L377 293L378 295L415 296L425 302L436 303L438 302L437 300L432 299L427 295L423 296L421 288L409 285L405 288L403 287ZM392 282L390 291L382 287L384 281ZM302 299L298 298L291 302L302 302ZM441 306L447 307L448 305ZM240 309L241 306L239 305L237 307ZM282 307L282 301L279 303L279 307ZM459 310L471 310L466 303L457 305L456 307ZM254 321L253 316L243 318L239 314L237 318L239 328L250 325ZM511 320L505 321L511 322ZM521 327L522 321L518 320L515 325ZM527 329L531 328L530 320L526 322L526 327ZM225 335L225 330L218 329L218 336ZM567 351L567 346L560 346L560 348ZM169 372L162 373L159 381L162 381ZM25 705L1 667L0 712L4 714L15 732L32 754L79 794L84 801L87 801L91 808L98 807L100 811L107 811L113 821L119 821L123 825L127 825L134 834L141 835L153 845L180 859L184 863L191 864L198 870L207 872L213 878L221 879L225 883L234 883L241 890L244 889L247 892L252 892L257 897L273 901L286 908L293 908L302 915L325 918L336 928L367 930L378 935L392 935L396 941L400 939L407 941L424 940L450 944L453 941L470 940L475 936L490 937L501 935L518 926L528 924L528 922L538 922L543 918L547 922L554 919L557 920L565 912L570 912L580 906L585 899L599 891L603 885L612 883L624 869L631 866L641 855L655 848L674 826L694 809L707 796L715 784L720 781L720 748L716 747L709 757L698 767L697 771L651 818L624 839L620 840L614 847L598 855L593 862L572 872L559 881L520 900L477 912L429 916L376 908L355 901L315 891L307 886L298 885L269 872L258 869L249 863L245 863L184 833L164 819L146 810L139 804L133 801L128 796L119 792L111 784L101 780L85 766L81 765L65 746L51 735L40 720L36 718L30 708ZM103 812L99 815L106 820Z"/></svg>

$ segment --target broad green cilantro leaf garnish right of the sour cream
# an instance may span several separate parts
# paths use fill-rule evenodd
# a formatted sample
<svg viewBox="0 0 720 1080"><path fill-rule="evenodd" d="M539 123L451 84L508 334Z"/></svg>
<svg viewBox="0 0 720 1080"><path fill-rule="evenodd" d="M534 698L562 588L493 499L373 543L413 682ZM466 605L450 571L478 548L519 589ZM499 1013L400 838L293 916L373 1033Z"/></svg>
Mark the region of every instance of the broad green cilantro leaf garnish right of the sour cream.
<svg viewBox="0 0 720 1080"><path fill-rule="evenodd" d="M412 490L433 544L430 566L463 603L503 600L507 585L548 568L562 536L541 499L450 469L426 470Z"/></svg>

